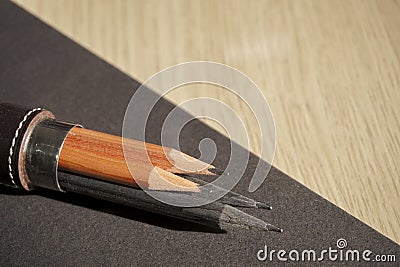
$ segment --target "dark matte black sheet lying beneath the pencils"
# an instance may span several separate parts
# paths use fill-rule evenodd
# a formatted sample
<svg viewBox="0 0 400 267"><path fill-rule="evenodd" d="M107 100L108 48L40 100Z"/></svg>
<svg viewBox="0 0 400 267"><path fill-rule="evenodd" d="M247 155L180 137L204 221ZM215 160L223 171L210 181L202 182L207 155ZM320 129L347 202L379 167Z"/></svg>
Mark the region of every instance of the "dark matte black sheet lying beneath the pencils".
<svg viewBox="0 0 400 267"><path fill-rule="evenodd" d="M121 134L125 108L138 86L137 81L14 4L0 2L1 101L44 106L59 119ZM167 101L158 105L148 141L159 143L160 123L171 108ZM182 149L198 155L196 142L203 137L217 142L215 165L223 167L229 159L229 141L200 122L185 128ZM252 156L247 174L256 163ZM6 266L254 266L270 264L257 260L257 252L265 245L274 250L318 252L337 249L336 241L344 238L346 249L396 254L397 263L387 265L399 265L397 244L279 170L273 168L253 194L247 192L248 182L243 179L235 190L274 206L272 211L249 212L283 227L284 233L240 229L208 233L184 222L87 197L45 190L24 194L0 187L0 262ZM275 255L273 264L278 263ZM314 264L378 265L329 261L327 256Z"/></svg>

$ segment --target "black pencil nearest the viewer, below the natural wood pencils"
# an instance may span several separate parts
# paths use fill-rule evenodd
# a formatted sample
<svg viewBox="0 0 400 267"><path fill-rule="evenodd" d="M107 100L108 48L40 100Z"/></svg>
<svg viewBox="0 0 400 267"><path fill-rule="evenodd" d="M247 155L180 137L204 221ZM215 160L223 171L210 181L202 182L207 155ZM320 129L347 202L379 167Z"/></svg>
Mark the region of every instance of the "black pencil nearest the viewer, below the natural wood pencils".
<svg viewBox="0 0 400 267"><path fill-rule="evenodd" d="M201 207L182 208L164 204L146 194L143 190L113 184L90 177L61 174L59 181L66 191L111 201L114 203L163 214L180 220L190 221L206 227L227 231L234 227L251 230L282 230L230 205L216 201ZM183 192L165 192L172 197L180 197Z"/></svg>

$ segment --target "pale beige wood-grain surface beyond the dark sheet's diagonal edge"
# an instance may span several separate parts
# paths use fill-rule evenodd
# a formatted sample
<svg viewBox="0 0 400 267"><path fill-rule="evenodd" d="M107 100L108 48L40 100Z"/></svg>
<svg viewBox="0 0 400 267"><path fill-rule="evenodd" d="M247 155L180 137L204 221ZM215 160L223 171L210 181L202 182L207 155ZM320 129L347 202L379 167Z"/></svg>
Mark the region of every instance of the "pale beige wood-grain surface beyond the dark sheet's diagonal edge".
<svg viewBox="0 0 400 267"><path fill-rule="evenodd" d="M193 60L239 69L270 103L274 165L400 242L399 1L18 3L140 81Z"/></svg>

